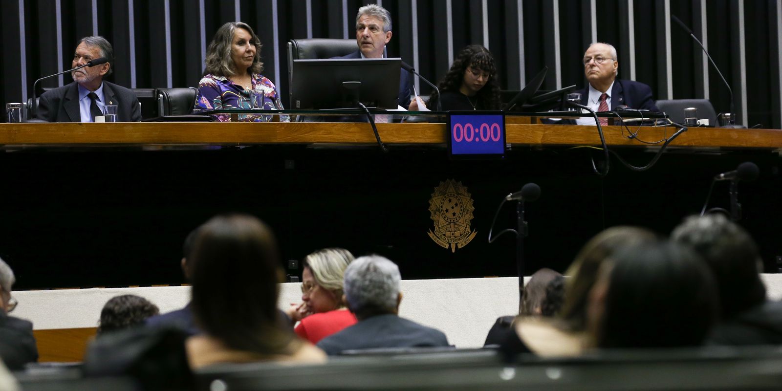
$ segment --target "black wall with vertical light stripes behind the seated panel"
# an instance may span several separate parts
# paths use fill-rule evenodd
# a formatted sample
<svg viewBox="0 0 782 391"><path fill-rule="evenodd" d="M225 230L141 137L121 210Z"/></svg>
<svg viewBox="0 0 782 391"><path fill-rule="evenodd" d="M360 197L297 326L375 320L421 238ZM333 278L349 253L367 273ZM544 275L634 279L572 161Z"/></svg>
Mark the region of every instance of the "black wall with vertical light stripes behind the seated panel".
<svg viewBox="0 0 782 391"><path fill-rule="evenodd" d="M66 70L78 38L100 34L116 52L114 82L132 88L193 86L217 27L242 20L264 43L265 76L287 96L287 42L354 38L358 0L3 0L0 102L31 94L38 77ZM619 77L650 84L655 99L707 98L730 111L728 92L680 17L705 41L734 90L740 122L780 127L779 0L385 0L389 55L439 80L458 50L486 45L503 88L518 89L542 66L543 88L583 84L592 41L619 51ZM110 79L109 79L110 80ZM45 81L55 87L70 76ZM425 84L421 93L429 93ZM4 113L5 114L5 113Z"/></svg>

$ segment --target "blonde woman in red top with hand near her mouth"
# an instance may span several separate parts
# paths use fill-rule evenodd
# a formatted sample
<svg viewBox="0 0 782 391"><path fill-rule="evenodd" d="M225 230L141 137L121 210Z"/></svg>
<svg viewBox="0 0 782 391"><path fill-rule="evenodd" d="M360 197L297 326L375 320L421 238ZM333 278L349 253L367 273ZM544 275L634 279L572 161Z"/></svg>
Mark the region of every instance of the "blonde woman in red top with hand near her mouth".
<svg viewBox="0 0 782 391"><path fill-rule="evenodd" d="M299 321L294 331L310 343L341 331L357 320L343 300L343 274L353 254L346 249L321 249L304 260L301 284L303 303L288 311Z"/></svg>

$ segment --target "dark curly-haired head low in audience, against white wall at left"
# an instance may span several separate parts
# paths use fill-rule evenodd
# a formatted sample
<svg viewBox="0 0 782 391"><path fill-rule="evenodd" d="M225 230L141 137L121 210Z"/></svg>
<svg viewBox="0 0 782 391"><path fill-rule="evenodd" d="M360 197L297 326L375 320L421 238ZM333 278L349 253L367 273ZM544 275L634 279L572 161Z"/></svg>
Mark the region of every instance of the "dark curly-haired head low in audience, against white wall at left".
<svg viewBox="0 0 782 391"><path fill-rule="evenodd" d="M112 297L100 311L98 334L143 325L146 318L159 313L155 304L141 296Z"/></svg>

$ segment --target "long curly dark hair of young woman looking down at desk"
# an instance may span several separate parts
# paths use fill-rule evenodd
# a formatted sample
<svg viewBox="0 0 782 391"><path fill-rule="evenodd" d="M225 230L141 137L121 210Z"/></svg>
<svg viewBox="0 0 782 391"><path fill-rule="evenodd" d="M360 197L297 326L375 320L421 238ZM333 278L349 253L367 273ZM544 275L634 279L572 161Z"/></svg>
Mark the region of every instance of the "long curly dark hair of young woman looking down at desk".
<svg viewBox="0 0 782 391"><path fill-rule="evenodd" d="M445 91L458 92L461 84L465 81L465 72L468 66L490 75L489 81L486 81L486 85L475 95L478 98L478 104L475 105L475 108L482 110L500 109L500 83L497 81L497 66L494 65L494 57L489 49L482 45L468 45L461 49L454 63L450 66L450 70L437 86L440 93ZM434 92L432 98L429 99L429 102L432 103L428 106L436 107L438 100L439 96Z"/></svg>

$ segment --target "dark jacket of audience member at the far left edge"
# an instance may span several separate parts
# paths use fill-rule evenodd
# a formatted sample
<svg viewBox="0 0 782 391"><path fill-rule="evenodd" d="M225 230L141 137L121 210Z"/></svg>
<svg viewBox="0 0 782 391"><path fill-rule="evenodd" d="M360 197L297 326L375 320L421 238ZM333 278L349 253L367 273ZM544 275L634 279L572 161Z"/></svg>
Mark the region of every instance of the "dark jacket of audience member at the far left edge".
<svg viewBox="0 0 782 391"><path fill-rule="evenodd" d="M38 361L38 346L30 321L0 311L0 357L12 371L19 371L24 364Z"/></svg>

